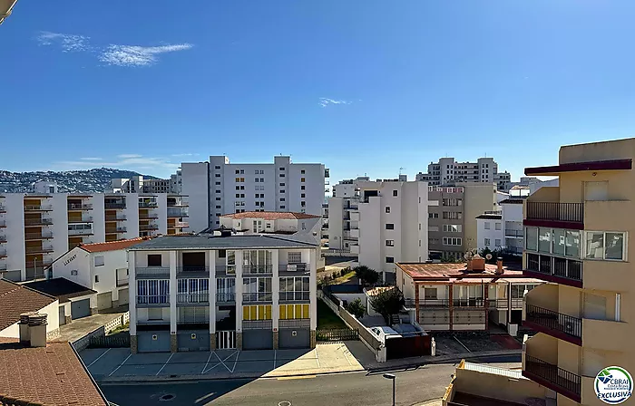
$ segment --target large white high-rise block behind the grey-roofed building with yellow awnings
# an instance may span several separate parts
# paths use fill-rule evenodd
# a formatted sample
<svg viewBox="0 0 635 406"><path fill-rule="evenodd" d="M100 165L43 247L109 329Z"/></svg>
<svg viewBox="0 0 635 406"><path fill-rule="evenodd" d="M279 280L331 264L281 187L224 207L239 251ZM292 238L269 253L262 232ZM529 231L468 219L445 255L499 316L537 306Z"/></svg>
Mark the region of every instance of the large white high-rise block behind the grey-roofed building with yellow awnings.
<svg viewBox="0 0 635 406"><path fill-rule="evenodd" d="M293 211L322 215L328 169L320 163L230 163L225 156L181 164L181 192L190 197L190 227L220 227L220 216L246 211Z"/></svg>

